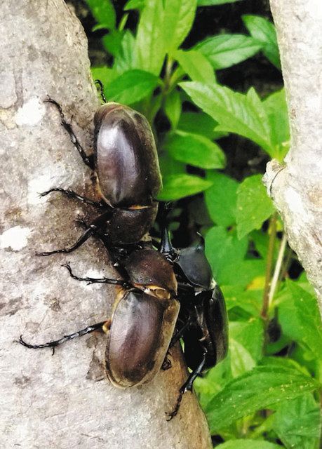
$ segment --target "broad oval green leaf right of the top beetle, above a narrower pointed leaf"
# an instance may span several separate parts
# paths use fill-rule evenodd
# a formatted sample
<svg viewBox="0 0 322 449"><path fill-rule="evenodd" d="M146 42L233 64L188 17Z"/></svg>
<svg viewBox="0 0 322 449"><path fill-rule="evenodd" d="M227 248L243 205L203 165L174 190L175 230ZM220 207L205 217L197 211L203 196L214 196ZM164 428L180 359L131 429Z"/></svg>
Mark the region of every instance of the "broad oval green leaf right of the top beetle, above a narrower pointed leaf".
<svg viewBox="0 0 322 449"><path fill-rule="evenodd" d="M225 156L222 149L211 140L199 134L177 130L169 134L163 143L177 161L200 168L224 168ZM211 185L211 182L210 184Z"/></svg>

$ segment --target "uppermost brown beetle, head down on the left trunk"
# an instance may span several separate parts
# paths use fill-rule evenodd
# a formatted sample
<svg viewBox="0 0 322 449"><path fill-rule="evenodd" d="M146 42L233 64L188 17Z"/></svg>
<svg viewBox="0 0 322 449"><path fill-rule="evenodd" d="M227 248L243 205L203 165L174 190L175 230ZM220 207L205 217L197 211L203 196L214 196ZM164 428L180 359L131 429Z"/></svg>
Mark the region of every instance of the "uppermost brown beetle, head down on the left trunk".
<svg viewBox="0 0 322 449"><path fill-rule="evenodd" d="M76 194L72 189L54 187L43 192L61 192L69 198L97 206L103 212L69 248L37 255L71 253L98 230L106 229L112 245L127 245L142 239L156 218L156 195L161 189L161 174L154 136L147 119L130 107L108 102L94 116L94 152L87 156L67 123L62 108L48 98L60 113L62 126L83 162L95 171L100 201Z"/></svg>

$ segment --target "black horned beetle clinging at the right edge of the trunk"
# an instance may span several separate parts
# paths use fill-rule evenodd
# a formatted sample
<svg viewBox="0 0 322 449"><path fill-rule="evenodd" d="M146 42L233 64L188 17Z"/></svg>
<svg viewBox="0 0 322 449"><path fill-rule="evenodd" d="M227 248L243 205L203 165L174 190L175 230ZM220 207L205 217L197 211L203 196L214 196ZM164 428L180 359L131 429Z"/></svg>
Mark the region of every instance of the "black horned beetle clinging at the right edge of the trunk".
<svg viewBox="0 0 322 449"><path fill-rule="evenodd" d="M168 420L171 420L177 415L182 396L186 391L192 391L196 377L227 356L228 320L224 297L213 279L203 239L194 246L175 249L163 224L160 250L173 263L180 301L177 327L181 328L171 345L182 337L185 360L192 370L180 387L175 408L167 413Z"/></svg>

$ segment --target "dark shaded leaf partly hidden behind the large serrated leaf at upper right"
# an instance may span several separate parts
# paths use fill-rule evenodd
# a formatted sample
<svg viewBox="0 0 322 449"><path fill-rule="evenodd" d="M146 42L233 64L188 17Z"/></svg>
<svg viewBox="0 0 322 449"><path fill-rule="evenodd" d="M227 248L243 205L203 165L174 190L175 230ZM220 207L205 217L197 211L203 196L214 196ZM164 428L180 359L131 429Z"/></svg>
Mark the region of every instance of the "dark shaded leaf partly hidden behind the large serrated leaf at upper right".
<svg viewBox="0 0 322 449"><path fill-rule="evenodd" d="M217 133L215 126L217 121L203 112L183 112L180 116L177 128L187 133L201 134L210 140L221 138L224 133Z"/></svg>

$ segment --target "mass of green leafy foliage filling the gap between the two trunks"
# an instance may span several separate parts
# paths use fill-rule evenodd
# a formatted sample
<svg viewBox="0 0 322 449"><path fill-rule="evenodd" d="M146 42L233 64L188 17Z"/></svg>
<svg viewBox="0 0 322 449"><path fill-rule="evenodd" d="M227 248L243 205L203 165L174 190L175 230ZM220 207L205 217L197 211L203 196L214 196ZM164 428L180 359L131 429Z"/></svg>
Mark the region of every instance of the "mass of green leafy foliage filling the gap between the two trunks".
<svg viewBox="0 0 322 449"><path fill-rule="evenodd" d="M262 173L255 167L236 175L227 147L217 142L232 133L241 136L236 152L250 142L257 156L283 161L288 152L282 86L269 95L267 88L264 95L255 88L241 93L216 76L260 51L279 68L274 25L244 15L250 36L223 29L182 48L197 7L234 1L129 0L117 23L112 1L88 0L95 29L107 30L102 43L109 55L109 65L92 68L93 77L104 83L109 100L133 105L156 132L159 200L198 194L185 200L189 224L206 235L206 255L229 311L229 355L194 384L211 431L225 441L216 448L317 449L322 330L316 300L305 276L286 280L294 257L287 248L262 319L265 283L281 248L280 237L267 232L274 206ZM135 31L126 28L133 9ZM283 233L280 220L277 229Z"/></svg>

